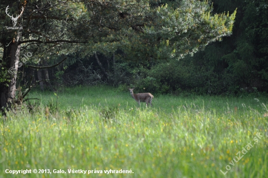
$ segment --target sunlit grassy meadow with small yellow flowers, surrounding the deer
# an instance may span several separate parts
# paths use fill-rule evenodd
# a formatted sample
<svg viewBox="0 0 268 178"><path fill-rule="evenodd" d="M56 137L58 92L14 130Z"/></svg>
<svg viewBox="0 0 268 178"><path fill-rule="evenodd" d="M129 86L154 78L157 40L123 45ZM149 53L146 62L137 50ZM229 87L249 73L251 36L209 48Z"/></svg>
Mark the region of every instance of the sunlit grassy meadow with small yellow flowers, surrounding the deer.
<svg viewBox="0 0 268 178"><path fill-rule="evenodd" d="M106 86L29 98L34 109L0 116L0 178L268 178L268 98L154 95L147 108Z"/></svg>

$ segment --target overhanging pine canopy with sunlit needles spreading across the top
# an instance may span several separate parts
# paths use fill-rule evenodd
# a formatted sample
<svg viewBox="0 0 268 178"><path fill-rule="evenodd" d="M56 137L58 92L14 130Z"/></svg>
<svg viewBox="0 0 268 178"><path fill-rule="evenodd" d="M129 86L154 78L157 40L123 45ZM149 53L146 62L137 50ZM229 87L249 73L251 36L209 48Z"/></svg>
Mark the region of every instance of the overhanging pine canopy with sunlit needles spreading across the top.
<svg viewBox="0 0 268 178"><path fill-rule="evenodd" d="M88 55L118 49L125 59L181 59L231 34L236 11L211 15L212 5L206 0L152 2L3 0L2 10L10 5L10 11L18 14L24 7L18 22L23 30L1 31L0 47L21 33L21 50L32 52L36 62L75 51ZM0 24L10 26L4 11L0 16Z"/></svg>

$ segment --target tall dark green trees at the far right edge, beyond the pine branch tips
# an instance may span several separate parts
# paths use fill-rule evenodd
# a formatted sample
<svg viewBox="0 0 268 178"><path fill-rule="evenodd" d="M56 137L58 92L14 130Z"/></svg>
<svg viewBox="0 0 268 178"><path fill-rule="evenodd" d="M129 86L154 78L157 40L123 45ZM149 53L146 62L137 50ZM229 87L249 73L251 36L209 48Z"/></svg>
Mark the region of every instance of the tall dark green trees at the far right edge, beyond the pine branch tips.
<svg viewBox="0 0 268 178"><path fill-rule="evenodd" d="M268 46L268 43L263 40L267 39L266 28L263 27L268 24L268 3L265 0L246 0L240 6L243 8L243 16L237 22L239 35L233 37L235 43L230 46L232 50L230 52L231 48L229 48L222 59L228 63L229 71L238 79L238 85L241 88L251 88L251 91L257 88L258 91L267 91L268 80L265 76L268 66L265 59L268 53L261 53L261 51L263 51L262 47ZM227 45L228 43L225 43L225 46Z"/></svg>

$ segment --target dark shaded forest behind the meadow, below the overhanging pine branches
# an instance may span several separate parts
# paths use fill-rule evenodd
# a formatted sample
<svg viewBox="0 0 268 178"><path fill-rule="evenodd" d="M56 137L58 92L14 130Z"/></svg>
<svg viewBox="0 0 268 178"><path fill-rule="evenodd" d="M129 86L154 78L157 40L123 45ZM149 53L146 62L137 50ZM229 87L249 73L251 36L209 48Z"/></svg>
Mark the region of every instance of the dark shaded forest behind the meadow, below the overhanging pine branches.
<svg viewBox="0 0 268 178"><path fill-rule="evenodd" d="M232 35L211 43L193 57L137 63L126 61L122 51L85 58L80 58L78 52L69 55L57 68L19 68L20 85L29 80L28 74L34 74L36 81L43 80L36 83L37 87L53 91L64 86L107 84L119 90L135 86L136 92L153 94L267 93L268 1L213 0L213 7L213 13L233 12L237 8ZM60 60L40 65L52 65Z"/></svg>

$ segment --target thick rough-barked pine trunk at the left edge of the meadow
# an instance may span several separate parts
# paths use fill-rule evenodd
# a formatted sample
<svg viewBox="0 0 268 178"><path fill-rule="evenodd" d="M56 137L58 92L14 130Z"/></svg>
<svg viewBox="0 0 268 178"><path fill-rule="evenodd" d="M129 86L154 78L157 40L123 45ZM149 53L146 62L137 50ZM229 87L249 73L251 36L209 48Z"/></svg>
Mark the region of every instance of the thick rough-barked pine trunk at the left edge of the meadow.
<svg viewBox="0 0 268 178"><path fill-rule="evenodd" d="M8 109L11 106L16 96L20 37L21 32L17 31L16 38L11 42L7 39L0 40L4 48L1 67L4 68L4 71L8 72L8 74L3 75L3 71L0 69L0 108L2 113L4 113L5 109Z"/></svg>

